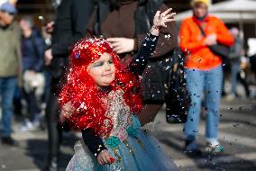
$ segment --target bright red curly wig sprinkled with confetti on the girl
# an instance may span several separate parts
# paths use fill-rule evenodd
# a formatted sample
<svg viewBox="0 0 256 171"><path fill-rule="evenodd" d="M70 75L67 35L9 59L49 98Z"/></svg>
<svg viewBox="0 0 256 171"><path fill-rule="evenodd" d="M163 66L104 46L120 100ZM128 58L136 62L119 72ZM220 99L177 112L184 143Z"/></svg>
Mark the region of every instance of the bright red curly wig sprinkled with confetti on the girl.
<svg viewBox="0 0 256 171"><path fill-rule="evenodd" d="M59 94L59 104L61 108L70 102L76 109L81 108L67 119L74 129L93 128L96 135L108 135L113 127L112 121L105 116L108 106L103 101L109 91L96 85L87 67L105 52L112 56L115 67L115 79L109 85L110 90L123 90L124 102L132 112L142 110L140 79L129 68L123 67L110 44L101 38L78 41L70 54L69 73Z"/></svg>

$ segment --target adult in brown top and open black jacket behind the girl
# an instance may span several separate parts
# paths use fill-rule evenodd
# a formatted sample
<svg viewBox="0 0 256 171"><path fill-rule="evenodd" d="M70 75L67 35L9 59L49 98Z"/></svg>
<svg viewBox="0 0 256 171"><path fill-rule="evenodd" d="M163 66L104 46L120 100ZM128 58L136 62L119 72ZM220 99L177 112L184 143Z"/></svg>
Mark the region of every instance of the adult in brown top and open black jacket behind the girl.
<svg viewBox="0 0 256 171"><path fill-rule="evenodd" d="M167 9L162 0L102 0L96 8L98 11L91 16L88 31L105 37L123 63L128 65L142 46L155 12ZM144 109L139 115L142 125L153 121L164 103L164 81L168 70L162 65L169 65L169 57L177 44L175 23L167 23L166 28L160 28L155 58L150 60L142 76Z"/></svg>

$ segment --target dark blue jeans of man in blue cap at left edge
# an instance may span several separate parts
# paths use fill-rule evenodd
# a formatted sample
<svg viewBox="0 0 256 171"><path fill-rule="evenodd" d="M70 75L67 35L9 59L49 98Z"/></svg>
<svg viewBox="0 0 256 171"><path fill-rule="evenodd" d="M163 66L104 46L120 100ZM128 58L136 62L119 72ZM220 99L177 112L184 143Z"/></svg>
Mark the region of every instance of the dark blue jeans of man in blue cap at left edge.
<svg viewBox="0 0 256 171"><path fill-rule="evenodd" d="M11 135L11 120L13 115L14 92L16 88L16 77L0 77L0 97L2 107L2 137Z"/></svg>

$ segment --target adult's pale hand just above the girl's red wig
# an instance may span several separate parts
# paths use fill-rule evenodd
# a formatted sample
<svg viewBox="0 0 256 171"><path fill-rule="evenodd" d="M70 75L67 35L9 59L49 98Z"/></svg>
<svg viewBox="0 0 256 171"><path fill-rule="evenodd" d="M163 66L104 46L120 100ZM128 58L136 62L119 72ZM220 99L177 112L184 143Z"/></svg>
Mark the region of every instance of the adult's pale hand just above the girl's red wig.
<svg viewBox="0 0 256 171"><path fill-rule="evenodd" d="M128 38L108 38L106 39L110 42L116 53L125 53L133 51L134 49L134 40Z"/></svg>

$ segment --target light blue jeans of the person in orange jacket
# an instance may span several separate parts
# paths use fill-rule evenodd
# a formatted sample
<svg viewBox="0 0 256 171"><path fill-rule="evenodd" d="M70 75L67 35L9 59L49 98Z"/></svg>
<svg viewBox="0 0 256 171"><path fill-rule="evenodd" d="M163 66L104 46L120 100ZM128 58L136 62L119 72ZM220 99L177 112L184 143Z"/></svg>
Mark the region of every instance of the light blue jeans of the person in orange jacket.
<svg viewBox="0 0 256 171"><path fill-rule="evenodd" d="M206 139L217 140L219 124L219 106L223 80L223 68L210 70L186 69L187 88L191 95L191 104L185 123L185 138L195 141L200 119L202 94L206 103Z"/></svg>

